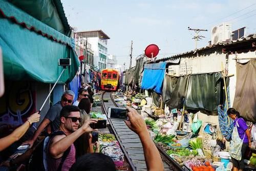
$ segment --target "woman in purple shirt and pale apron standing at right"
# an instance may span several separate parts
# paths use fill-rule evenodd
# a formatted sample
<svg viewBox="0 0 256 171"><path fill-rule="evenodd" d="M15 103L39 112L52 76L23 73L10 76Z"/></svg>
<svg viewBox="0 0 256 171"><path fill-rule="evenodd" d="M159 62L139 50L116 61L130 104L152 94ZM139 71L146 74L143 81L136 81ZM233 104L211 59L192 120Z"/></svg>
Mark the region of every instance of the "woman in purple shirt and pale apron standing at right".
<svg viewBox="0 0 256 171"><path fill-rule="evenodd" d="M236 109L229 108L228 116L234 120L233 133L230 141L230 156L233 161L233 171L244 169L244 156L246 148L251 147L251 135L245 120Z"/></svg>

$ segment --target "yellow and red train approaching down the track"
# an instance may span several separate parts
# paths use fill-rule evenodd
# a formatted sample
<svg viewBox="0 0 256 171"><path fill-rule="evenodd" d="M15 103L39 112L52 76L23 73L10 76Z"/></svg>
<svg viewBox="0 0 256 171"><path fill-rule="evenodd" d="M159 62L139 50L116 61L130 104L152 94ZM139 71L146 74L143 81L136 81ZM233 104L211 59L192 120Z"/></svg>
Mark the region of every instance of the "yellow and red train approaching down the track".
<svg viewBox="0 0 256 171"><path fill-rule="evenodd" d="M101 71L101 90L116 91L119 87L119 72L115 69Z"/></svg>

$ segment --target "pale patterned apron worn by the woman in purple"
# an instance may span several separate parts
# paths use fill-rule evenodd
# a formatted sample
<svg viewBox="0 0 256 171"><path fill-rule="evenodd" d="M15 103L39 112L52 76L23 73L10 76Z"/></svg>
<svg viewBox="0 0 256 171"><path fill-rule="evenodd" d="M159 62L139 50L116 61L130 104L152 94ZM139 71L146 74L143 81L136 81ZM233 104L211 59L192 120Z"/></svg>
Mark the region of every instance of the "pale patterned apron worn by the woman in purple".
<svg viewBox="0 0 256 171"><path fill-rule="evenodd" d="M241 160L241 158L242 158L241 149L242 149L244 138L241 139L239 137L239 134L238 134L238 127L239 127L238 120L237 120L236 125L234 126L234 129L233 129L232 139L231 139L230 148L229 148L229 154L232 158L234 158L236 160ZM245 137L245 133L244 133L244 137Z"/></svg>

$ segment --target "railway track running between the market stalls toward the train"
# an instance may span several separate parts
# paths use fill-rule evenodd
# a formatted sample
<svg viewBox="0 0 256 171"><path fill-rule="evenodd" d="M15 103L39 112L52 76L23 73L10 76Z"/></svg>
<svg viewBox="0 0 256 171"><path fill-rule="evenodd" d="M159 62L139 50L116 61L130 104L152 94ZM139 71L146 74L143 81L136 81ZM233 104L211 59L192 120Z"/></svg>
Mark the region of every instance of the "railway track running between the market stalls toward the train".
<svg viewBox="0 0 256 171"><path fill-rule="evenodd" d="M104 102L103 99L111 99L108 102ZM118 107L110 92L104 92L102 94L102 110L107 114L108 108L114 106ZM108 119L110 123L111 132L115 135L116 139L120 143L120 147L130 164L131 170L147 170L145 158L143 154L142 144L139 136L126 126L122 120ZM164 163L164 170L184 170L179 164L177 164L172 158L170 158L163 149L157 145Z"/></svg>

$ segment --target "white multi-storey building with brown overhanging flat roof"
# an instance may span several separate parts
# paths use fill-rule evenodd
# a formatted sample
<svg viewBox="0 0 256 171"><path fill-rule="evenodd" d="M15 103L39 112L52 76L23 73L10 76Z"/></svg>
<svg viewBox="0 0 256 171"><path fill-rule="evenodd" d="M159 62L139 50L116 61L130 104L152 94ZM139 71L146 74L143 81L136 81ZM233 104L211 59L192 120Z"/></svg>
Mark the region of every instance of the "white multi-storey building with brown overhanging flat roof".
<svg viewBox="0 0 256 171"><path fill-rule="evenodd" d="M82 31L74 34L75 37L86 38L91 45L91 49L94 52L92 69L105 69L106 56L108 54L108 39L110 39L110 37L102 30Z"/></svg>

